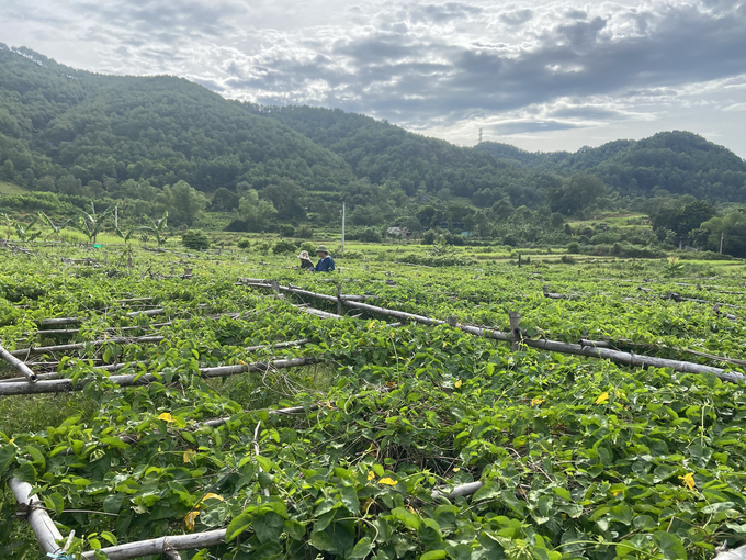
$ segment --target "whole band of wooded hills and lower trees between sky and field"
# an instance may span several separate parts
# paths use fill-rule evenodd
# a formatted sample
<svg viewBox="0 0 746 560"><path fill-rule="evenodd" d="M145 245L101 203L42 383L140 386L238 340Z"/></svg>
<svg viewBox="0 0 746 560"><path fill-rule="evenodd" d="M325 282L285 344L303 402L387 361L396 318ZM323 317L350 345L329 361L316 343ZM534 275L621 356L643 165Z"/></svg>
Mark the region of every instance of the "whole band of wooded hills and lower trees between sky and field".
<svg viewBox="0 0 746 560"><path fill-rule="evenodd" d="M122 232L339 227L380 240L746 257L746 161L682 131L576 153L459 147L386 121L226 100L184 79L104 76L0 43L0 198L7 223L116 206ZM652 228L578 224L644 214ZM89 216L90 217L90 216ZM10 226L9 226L10 228Z"/></svg>

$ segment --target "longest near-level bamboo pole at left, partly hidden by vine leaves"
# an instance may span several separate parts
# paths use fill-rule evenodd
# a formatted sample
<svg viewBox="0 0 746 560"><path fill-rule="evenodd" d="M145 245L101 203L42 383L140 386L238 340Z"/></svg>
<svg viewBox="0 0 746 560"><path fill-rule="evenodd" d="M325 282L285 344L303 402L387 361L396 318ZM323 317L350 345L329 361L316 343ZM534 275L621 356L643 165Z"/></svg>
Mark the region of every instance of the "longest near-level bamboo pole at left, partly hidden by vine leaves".
<svg viewBox="0 0 746 560"><path fill-rule="evenodd" d="M217 368L200 369L200 374L204 378L217 378L237 376L251 371L267 371L270 369L289 369L301 366L309 366L318 362L317 358L301 357L274 361L255 361L247 365L222 366ZM120 387L132 387L139 384L148 384L158 381L152 373L140 376L139 373L132 373L126 376L112 376L109 380ZM14 382L0 383L0 395L13 394L38 394L38 393L66 393L69 391L81 391L82 388L89 383L90 380L82 380L80 383L74 383L71 379L53 379L49 381L42 381L37 383Z"/></svg>

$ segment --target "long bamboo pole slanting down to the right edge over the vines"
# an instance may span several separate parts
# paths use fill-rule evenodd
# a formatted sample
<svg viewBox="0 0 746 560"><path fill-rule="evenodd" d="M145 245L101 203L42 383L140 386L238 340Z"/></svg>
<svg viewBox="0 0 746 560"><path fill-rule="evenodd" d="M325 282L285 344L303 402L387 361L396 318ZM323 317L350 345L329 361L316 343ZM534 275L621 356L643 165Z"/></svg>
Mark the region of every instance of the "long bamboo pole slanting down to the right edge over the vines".
<svg viewBox="0 0 746 560"><path fill-rule="evenodd" d="M403 311L394 311L385 307L376 307L375 305L369 305L366 303L358 303L352 301L344 302L346 305L351 307L357 307L363 311L370 311L373 313L381 313L383 315L394 316L398 318L415 321L426 325L443 325L444 321L433 320L430 317L423 317L422 315L415 315L411 313L405 313ZM456 325L465 333L470 333L476 336L483 336L488 338L495 338L496 340L510 341L510 335L501 333L499 331L491 331L489 328L474 327L468 325ZM723 381L730 382L743 382L746 381L746 376L743 373L726 372L722 368L713 368L711 366L701 366L699 363L691 363L688 361L680 360L669 360L666 358L654 358L649 356L643 356L632 352L623 352L619 350L612 350L608 348L598 348L592 346L583 346L579 344L567 344L558 343L555 340L532 340L530 338L524 338L523 344L525 346L531 346L532 348L540 348L542 350L556 351L560 354L572 354L576 356L586 356L589 358L601 358L613 361L614 363L621 363L623 366L630 366L635 368L671 368L676 371L682 371L685 373L712 373Z"/></svg>

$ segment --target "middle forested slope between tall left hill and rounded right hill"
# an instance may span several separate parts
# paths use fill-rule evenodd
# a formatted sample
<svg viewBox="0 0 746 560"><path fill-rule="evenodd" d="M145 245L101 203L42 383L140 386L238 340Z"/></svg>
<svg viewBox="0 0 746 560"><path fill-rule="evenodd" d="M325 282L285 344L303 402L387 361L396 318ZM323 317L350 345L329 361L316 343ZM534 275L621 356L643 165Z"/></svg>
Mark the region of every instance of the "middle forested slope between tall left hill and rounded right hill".
<svg viewBox="0 0 746 560"><path fill-rule="evenodd" d="M556 177L522 169L485 152L339 109L246 107L340 155L358 178L402 189L408 195L466 197L482 206L507 195L515 205L535 205L543 201L546 188L558 183Z"/></svg>

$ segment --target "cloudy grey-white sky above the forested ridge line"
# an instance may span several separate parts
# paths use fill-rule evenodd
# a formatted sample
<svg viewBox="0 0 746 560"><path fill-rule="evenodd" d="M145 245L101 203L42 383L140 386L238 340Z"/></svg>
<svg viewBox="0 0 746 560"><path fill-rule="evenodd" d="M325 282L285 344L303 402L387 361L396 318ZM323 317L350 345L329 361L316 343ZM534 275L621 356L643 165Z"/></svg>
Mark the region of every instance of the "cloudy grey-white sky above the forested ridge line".
<svg viewBox="0 0 746 560"><path fill-rule="evenodd" d="M0 0L0 42L462 146L687 130L746 158L746 0Z"/></svg>

